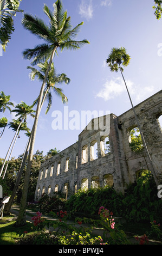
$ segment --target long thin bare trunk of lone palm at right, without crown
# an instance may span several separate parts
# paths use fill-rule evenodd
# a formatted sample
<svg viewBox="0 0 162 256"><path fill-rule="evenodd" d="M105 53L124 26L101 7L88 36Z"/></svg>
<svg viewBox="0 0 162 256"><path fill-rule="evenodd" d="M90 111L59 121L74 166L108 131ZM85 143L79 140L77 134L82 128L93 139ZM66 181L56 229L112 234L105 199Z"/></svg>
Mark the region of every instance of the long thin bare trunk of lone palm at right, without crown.
<svg viewBox="0 0 162 256"><path fill-rule="evenodd" d="M142 143L144 144L144 149L146 151L146 155L148 156L148 161L149 161L149 165L150 165L150 170L153 174L153 177L154 177L154 180L155 180L155 184L158 186L159 185L159 181L157 179L157 176L155 175L155 171L154 171L154 167L153 167L153 164L152 164L152 160L151 160L151 156L150 156L150 153L148 151L148 148L147 148L147 145L146 145L146 142L145 142L145 138L143 136L143 133L142 133L142 130L141 130L141 126L139 124L139 120L138 120L138 117L137 117L137 114L135 112L135 109L134 109L134 106L133 106L133 103L132 103L132 100L131 100L131 96L129 94L129 91L128 91L128 88L127 88L127 85L126 85L126 82L125 82L125 78L124 78L124 75L122 74L122 70L121 70L121 66L119 64L119 68L120 68L120 72L121 72L121 75L122 75L122 78L124 80L124 83L125 83L125 86L126 86L126 89L127 89L127 93L128 93L128 96L129 96L129 100L131 101L131 105L132 105L132 109L133 109L133 112L134 112L134 116L135 116L135 120L137 121L137 125L138 125L138 128L139 128L139 132L140 132L140 135L141 135L141 139L142 139Z"/></svg>

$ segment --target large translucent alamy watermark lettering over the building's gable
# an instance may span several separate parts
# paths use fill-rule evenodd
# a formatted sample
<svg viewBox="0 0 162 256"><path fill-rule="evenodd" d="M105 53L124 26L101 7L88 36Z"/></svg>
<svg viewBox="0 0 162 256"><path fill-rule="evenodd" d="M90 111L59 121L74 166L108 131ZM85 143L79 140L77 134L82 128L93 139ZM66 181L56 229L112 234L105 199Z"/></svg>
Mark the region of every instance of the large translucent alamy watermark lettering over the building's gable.
<svg viewBox="0 0 162 256"><path fill-rule="evenodd" d="M100 135L108 135L110 128L110 111L76 111L69 112L68 106L64 106L63 113L53 111L51 123L53 130L100 130ZM93 121L91 121L93 119Z"/></svg>

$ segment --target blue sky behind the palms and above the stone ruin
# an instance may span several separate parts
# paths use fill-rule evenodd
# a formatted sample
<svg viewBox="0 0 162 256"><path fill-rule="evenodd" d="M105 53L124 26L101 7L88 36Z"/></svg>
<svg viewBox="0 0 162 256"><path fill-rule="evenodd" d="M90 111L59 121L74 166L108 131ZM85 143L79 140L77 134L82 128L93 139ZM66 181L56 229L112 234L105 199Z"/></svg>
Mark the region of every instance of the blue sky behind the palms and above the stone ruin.
<svg viewBox="0 0 162 256"><path fill-rule="evenodd" d="M53 9L54 0L22 0L20 8L25 13L41 17L48 23L43 13L46 3ZM90 44L77 51L59 52L54 59L58 74L64 72L69 78L68 85L63 84L68 105L53 94L53 105L46 115L46 102L38 122L35 150L46 155L49 149L63 150L75 143L80 130L53 130L54 111L64 114L68 111L109 111L120 115L131 108L128 95L120 73L112 73L106 65L106 59L113 47L125 47L131 56L131 62L124 70L124 76L132 97L133 105L147 99L161 90L162 81L162 19L156 20L153 14L153 0L62 0L64 9L71 17L75 27L84 21L77 40L87 39ZM24 101L31 105L38 96L41 83L30 81L29 60L22 58L25 48L33 48L42 43L35 35L26 31L22 25L23 14L14 18L15 32L11 36L7 50L0 57L1 88L5 95L11 95L10 101L16 105ZM0 113L9 121L15 118L9 111ZM70 121L70 117L68 120ZM33 119L28 118L31 129ZM22 154L27 143L24 132L20 133L12 156ZM6 129L1 138L0 157L5 157L14 132Z"/></svg>

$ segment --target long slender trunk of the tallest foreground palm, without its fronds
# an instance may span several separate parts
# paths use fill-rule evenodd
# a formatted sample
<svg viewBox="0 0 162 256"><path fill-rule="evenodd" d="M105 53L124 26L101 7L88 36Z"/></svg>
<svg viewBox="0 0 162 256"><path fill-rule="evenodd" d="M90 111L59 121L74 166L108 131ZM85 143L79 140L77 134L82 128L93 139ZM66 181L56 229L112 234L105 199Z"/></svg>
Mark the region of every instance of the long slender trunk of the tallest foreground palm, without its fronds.
<svg viewBox="0 0 162 256"><path fill-rule="evenodd" d="M38 103L37 103L37 108L36 108L36 113L35 113L34 125L33 125L33 130L32 130L32 133L31 133L31 144L30 144L30 149L29 149L27 170L25 172L25 178L24 178L24 187L23 187L23 192L22 192L20 211L19 211L19 214L18 214L18 217L17 217L17 221L15 223L16 226L22 226L22 225L26 224L25 209L26 209L26 204L27 204L30 169L31 169L31 163L32 163L32 160L33 160L33 152L34 152L34 144L35 144L38 118L39 118L39 115L40 115L40 109L41 109L44 87L46 86L48 72L50 70L51 63L53 62L54 53L56 51L56 48L57 48L57 46L55 46L55 48L53 50L53 53L51 54L50 61L49 61L49 64L48 64L48 68L46 70L46 74L44 76L44 80L43 80L42 87L41 87L41 90L40 90L40 95L38 97Z"/></svg>

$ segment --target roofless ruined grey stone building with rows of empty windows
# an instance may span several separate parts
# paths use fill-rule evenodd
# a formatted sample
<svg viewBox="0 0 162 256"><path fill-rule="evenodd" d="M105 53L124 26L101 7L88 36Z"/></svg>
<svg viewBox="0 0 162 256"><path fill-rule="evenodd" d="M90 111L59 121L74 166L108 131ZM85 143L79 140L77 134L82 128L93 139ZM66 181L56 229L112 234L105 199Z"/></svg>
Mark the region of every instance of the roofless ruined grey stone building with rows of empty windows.
<svg viewBox="0 0 162 256"><path fill-rule="evenodd" d="M162 114L162 90L134 108L155 174L162 184L162 130L158 121ZM132 108L118 117L109 114L92 119L76 143L41 164L35 200L42 193L64 191L68 198L80 188L106 185L124 192L139 171L148 169L145 151L133 151L130 147L129 133L134 127L137 123Z"/></svg>

